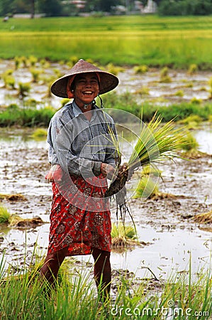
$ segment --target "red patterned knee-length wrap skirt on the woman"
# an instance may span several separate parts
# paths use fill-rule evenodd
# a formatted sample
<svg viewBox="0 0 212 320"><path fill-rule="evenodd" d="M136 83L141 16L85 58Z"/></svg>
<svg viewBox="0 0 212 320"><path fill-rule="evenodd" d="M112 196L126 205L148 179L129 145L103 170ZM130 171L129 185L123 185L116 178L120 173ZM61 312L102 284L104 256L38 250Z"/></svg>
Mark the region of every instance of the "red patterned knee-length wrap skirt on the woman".
<svg viewBox="0 0 212 320"><path fill-rule="evenodd" d="M68 255L111 251L111 213L104 198L106 178L71 176L52 183L48 255L68 247Z"/></svg>

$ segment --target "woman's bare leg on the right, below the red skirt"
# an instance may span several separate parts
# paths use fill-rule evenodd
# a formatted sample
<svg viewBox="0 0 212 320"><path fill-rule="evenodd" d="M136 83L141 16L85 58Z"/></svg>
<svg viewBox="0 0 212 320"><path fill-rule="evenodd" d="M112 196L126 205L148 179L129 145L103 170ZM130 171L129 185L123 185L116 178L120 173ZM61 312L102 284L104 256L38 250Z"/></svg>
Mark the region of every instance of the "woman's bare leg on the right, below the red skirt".
<svg viewBox="0 0 212 320"><path fill-rule="evenodd" d="M94 279L102 299L107 299L111 291L111 252L93 249Z"/></svg>

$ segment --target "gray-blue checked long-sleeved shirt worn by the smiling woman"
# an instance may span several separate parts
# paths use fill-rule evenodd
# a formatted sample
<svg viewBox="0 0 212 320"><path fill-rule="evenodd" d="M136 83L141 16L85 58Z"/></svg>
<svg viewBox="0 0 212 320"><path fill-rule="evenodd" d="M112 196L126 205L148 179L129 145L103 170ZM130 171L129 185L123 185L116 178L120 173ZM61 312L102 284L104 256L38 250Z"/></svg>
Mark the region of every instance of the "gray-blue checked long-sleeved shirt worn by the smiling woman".
<svg viewBox="0 0 212 320"><path fill-rule="evenodd" d="M111 135L117 141L113 119L104 110L94 105L89 121L75 102L69 103L50 121L50 164L60 164L69 174L98 176L102 162L116 166L118 160L117 145Z"/></svg>

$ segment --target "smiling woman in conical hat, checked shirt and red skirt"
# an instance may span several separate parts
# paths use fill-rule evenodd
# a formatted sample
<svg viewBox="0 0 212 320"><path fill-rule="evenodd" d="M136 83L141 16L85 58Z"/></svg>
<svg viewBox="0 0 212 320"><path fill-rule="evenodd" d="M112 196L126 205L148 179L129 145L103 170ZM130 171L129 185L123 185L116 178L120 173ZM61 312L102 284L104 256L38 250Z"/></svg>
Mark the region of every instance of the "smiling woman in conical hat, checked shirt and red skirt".
<svg viewBox="0 0 212 320"><path fill-rule="evenodd" d="M74 100L55 113L48 129L52 170L47 178L53 197L48 253L40 273L52 284L66 256L92 254L103 297L111 283L111 216L104 193L118 157L113 119L94 99L117 85L115 75L79 60L52 84L53 94Z"/></svg>

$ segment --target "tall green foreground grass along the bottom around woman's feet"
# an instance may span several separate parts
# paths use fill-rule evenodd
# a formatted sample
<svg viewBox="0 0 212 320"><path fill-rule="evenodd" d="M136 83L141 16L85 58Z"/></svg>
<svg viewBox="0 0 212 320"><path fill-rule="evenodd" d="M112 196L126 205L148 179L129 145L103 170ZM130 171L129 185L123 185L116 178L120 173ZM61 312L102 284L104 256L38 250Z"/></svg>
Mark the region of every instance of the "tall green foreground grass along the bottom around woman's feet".
<svg viewBox="0 0 212 320"><path fill-rule="evenodd" d="M211 319L211 273L199 272L193 279L189 273L176 273L166 280L129 278L120 274L112 282L117 285L113 302L99 304L94 280L85 272L70 273L63 268L51 299L46 292L48 284L38 276L38 267L23 266L13 274L4 270L0 262L0 316L5 320L104 320L133 319L161 320L172 314L172 319ZM69 274L69 277L68 277ZM137 284L135 284L137 283ZM154 287L155 285L155 287ZM154 289L147 288L153 287ZM195 315L195 316L194 316Z"/></svg>

